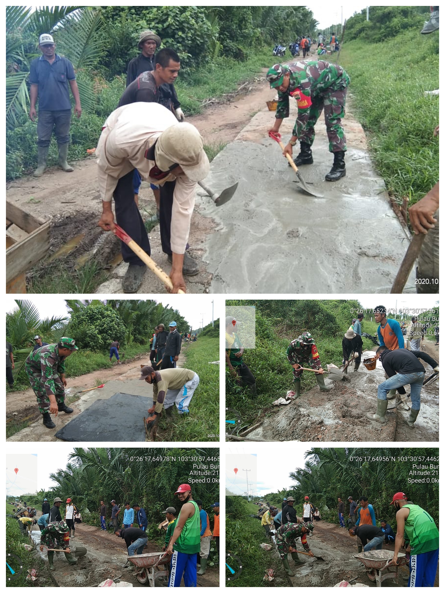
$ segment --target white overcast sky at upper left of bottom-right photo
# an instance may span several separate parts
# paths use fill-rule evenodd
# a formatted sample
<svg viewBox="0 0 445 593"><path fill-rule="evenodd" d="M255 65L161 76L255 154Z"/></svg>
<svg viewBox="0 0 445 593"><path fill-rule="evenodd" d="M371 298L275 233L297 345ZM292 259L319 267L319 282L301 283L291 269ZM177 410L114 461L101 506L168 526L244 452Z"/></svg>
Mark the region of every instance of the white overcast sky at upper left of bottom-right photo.
<svg viewBox="0 0 445 593"><path fill-rule="evenodd" d="M289 474L297 467L304 467L304 453L309 447L300 443L267 443L252 445L226 445L225 487L234 494L246 492L246 472L253 492L258 496L289 489L295 485ZM237 473L234 472L237 468ZM252 479L256 476L256 482ZM256 488L255 488L256 484Z"/></svg>

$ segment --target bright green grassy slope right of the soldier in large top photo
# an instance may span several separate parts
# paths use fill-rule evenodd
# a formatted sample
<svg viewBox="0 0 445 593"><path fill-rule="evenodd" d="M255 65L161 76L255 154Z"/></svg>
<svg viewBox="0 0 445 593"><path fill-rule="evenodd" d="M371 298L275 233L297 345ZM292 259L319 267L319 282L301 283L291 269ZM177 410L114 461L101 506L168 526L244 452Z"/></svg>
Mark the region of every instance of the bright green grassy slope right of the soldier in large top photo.
<svg viewBox="0 0 445 593"><path fill-rule="evenodd" d="M340 62L377 170L396 202L413 205L439 174L439 101L424 95L439 84L438 36L416 28L384 43L348 42Z"/></svg>

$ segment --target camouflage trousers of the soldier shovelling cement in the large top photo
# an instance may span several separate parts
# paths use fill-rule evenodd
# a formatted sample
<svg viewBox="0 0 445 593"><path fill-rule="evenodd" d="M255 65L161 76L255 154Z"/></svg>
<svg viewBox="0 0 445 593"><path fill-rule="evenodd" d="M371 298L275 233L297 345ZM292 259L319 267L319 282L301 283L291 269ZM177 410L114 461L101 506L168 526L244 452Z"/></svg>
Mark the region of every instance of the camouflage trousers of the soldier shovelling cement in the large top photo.
<svg viewBox="0 0 445 593"><path fill-rule="evenodd" d="M328 90L313 98L309 108L309 120L300 138L298 138L300 142L306 142L306 144L312 146L315 138L314 126L324 109L329 152L347 150L346 136L341 122L342 117L345 117L347 90L347 87L338 91Z"/></svg>

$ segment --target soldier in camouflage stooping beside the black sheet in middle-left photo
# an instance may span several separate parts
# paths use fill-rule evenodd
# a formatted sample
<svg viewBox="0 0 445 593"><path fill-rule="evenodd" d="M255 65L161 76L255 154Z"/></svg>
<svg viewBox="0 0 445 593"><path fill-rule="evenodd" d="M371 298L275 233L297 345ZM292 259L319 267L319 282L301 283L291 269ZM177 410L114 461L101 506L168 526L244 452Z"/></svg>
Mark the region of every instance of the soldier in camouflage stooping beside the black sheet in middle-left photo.
<svg viewBox="0 0 445 593"><path fill-rule="evenodd" d="M71 414L73 411L65 404L65 359L77 349L71 337L62 337L58 344L42 346L26 359L26 374L47 428L56 426L50 412L57 416L58 412Z"/></svg>

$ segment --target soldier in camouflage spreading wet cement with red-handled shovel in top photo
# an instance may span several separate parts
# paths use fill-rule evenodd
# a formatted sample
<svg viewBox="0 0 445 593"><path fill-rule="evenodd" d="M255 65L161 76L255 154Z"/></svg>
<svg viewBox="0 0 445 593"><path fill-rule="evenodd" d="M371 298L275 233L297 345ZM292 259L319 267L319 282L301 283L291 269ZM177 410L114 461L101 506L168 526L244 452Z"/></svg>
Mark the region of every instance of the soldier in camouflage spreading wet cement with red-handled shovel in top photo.
<svg viewBox="0 0 445 593"><path fill-rule="evenodd" d="M324 109L329 151L334 154L332 169L325 179L336 181L344 177L347 148L341 120L345 116L349 85L349 76L344 69L325 60L304 60L288 65L275 64L269 69L266 79L271 88L278 90L278 106L272 132L278 132L284 117L289 117L289 97L295 98L298 105L298 117L284 155L288 153L292 156L292 148L299 138L301 151L294 160L295 165L300 167L314 162L311 151L315 138L314 126Z"/></svg>

